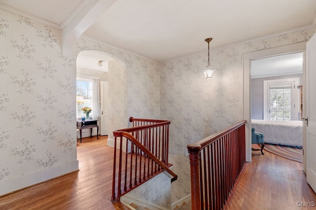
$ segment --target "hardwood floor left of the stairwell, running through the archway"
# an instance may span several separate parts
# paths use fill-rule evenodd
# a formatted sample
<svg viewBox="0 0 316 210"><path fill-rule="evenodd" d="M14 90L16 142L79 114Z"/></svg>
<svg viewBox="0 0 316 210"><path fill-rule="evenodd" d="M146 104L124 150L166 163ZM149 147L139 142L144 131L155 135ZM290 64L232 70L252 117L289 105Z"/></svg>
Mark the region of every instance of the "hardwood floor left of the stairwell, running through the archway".
<svg viewBox="0 0 316 210"><path fill-rule="evenodd" d="M107 136L77 143L79 172L0 198L0 210L128 210L109 200L113 151Z"/></svg>

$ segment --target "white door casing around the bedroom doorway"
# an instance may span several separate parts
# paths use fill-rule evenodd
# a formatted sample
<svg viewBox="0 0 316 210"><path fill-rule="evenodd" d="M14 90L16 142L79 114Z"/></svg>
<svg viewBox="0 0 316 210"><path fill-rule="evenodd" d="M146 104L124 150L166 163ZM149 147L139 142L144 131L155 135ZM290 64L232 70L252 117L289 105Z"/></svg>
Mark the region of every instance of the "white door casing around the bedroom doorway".
<svg viewBox="0 0 316 210"><path fill-rule="evenodd" d="M252 119L252 101L251 93L251 77L252 75L252 60L260 60L263 58L273 58L280 55L288 55L293 53L302 53L305 51L306 43L297 43L282 47L276 47L272 49L256 51L252 53L247 53L243 55L243 71L244 71L244 119L247 120L246 123L246 161L251 161L251 119ZM268 71L268 70L266 70ZM262 73L262 72L261 72ZM304 74L304 71L303 71ZM263 100L263 98L262 98ZM261 109L263 110L263 101L261 103ZM262 111L263 116L263 111ZM262 118L263 119L263 118ZM303 144L304 145L304 144Z"/></svg>

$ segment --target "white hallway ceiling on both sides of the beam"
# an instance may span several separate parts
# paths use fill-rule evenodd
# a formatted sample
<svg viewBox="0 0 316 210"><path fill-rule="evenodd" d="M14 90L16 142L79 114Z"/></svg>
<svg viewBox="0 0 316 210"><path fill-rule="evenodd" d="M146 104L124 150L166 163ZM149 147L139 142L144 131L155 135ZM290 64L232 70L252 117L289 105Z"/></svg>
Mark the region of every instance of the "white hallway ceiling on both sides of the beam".
<svg viewBox="0 0 316 210"><path fill-rule="evenodd" d="M212 51L316 23L316 0L107 1L83 34L158 62L207 52L207 37ZM63 30L100 2L0 0L0 7Z"/></svg>

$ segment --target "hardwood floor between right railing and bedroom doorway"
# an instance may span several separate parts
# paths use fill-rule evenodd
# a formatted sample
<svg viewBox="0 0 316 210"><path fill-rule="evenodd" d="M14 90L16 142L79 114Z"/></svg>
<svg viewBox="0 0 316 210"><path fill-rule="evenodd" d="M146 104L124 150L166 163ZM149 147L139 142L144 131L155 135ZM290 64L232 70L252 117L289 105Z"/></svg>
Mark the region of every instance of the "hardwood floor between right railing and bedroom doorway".
<svg viewBox="0 0 316 210"><path fill-rule="evenodd" d="M316 210L302 163L252 151L246 165L228 210Z"/></svg>

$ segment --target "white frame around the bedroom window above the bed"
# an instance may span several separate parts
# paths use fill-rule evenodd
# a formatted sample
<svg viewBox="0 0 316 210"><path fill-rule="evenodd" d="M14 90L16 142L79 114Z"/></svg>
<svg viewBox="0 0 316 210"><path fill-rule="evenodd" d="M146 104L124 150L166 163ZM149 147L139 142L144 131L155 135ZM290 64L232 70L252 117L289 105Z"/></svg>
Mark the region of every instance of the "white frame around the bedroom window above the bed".
<svg viewBox="0 0 316 210"><path fill-rule="evenodd" d="M270 103L270 90L269 85L279 83L291 83L294 82L294 87L291 90L291 120L299 120L299 90L297 87L300 85L300 78L288 78L288 79L277 79L277 80L265 80L263 81L263 110L264 120L270 120L268 113L268 103Z"/></svg>

